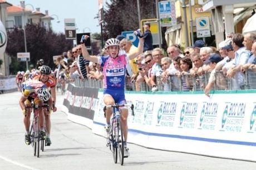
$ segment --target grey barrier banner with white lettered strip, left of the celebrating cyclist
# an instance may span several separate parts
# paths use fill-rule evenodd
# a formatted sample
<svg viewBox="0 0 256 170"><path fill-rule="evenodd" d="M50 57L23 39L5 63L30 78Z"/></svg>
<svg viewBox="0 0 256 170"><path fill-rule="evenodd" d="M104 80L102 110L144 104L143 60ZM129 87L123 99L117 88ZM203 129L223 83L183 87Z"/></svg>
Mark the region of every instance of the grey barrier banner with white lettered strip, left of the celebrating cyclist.
<svg viewBox="0 0 256 170"><path fill-rule="evenodd" d="M69 83L63 105L68 108L69 113L92 120L99 102L97 97L98 89L79 88Z"/></svg>

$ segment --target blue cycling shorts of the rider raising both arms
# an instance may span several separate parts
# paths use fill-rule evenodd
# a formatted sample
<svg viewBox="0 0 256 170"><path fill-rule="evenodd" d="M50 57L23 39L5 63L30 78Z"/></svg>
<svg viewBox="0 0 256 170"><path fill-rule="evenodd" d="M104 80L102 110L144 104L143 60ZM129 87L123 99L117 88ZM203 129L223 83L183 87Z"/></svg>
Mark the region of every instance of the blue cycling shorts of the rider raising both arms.
<svg viewBox="0 0 256 170"><path fill-rule="evenodd" d="M114 98L115 104L126 104L125 91L115 91L110 89L104 89L104 97L109 95Z"/></svg>

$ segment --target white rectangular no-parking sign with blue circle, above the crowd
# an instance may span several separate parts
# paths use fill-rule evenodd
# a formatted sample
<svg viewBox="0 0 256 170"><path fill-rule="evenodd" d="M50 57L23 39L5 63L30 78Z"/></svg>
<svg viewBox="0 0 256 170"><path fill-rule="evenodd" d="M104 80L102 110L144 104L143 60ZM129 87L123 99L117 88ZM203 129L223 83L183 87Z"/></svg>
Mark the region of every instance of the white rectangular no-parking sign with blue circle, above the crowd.
<svg viewBox="0 0 256 170"><path fill-rule="evenodd" d="M196 37L210 37L209 17L196 17Z"/></svg>

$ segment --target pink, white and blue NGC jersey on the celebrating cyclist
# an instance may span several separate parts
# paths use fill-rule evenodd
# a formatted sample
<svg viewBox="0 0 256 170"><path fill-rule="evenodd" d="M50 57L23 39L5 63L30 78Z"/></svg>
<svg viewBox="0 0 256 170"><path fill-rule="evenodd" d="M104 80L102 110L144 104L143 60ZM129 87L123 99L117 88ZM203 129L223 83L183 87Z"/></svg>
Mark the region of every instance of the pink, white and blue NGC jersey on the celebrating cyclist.
<svg viewBox="0 0 256 170"><path fill-rule="evenodd" d="M126 54L112 58L110 56L99 56L98 63L101 64L104 74L104 89L125 89L126 64L129 57Z"/></svg>

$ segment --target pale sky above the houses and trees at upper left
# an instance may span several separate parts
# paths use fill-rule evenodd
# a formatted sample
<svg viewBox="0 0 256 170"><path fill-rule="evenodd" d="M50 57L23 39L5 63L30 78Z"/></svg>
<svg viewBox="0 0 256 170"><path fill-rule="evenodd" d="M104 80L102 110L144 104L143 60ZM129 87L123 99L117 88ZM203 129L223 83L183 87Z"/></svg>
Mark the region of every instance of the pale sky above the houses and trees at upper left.
<svg viewBox="0 0 256 170"><path fill-rule="evenodd" d="M19 6L21 0L6 0L8 3ZM109 1L109 0L107 0ZM106 0L104 1L104 3ZM52 16L52 29L55 32L64 33L64 19L75 18L77 33L91 32L100 33L98 19L94 19L99 11L98 0L25 0L26 8L33 9L32 6L40 8L42 13L48 10L49 15L57 15L60 23L57 23L57 17Z"/></svg>

